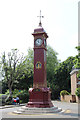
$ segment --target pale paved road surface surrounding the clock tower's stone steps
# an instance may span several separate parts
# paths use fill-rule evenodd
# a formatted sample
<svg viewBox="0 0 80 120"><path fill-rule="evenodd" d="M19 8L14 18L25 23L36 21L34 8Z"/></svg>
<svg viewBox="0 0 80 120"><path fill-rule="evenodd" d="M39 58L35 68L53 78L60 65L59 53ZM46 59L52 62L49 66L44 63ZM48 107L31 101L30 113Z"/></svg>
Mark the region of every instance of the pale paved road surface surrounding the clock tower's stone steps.
<svg viewBox="0 0 80 120"><path fill-rule="evenodd" d="M54 106L62 109L61 113L35 113L35 114L15 114L14 111L22 110L27 103L20 105L0 106L2 118L78 118L79 105L77 103L68 103L61 101L52 101ZM20 110L20 111L21 111Z"/></svg>

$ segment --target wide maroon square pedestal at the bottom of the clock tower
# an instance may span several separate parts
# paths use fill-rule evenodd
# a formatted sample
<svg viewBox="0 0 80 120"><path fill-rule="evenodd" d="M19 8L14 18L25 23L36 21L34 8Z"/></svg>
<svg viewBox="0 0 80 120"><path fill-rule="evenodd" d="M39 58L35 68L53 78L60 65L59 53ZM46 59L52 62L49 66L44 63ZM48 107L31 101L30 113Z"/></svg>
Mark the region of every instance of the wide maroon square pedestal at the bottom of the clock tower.
<svg viewBox="0 0 80 120"><path fill-rule="evenodd" d="M30 88L29 102L27 107L50 108L53 107L51 102L51 91L49 88Z"/></svg>

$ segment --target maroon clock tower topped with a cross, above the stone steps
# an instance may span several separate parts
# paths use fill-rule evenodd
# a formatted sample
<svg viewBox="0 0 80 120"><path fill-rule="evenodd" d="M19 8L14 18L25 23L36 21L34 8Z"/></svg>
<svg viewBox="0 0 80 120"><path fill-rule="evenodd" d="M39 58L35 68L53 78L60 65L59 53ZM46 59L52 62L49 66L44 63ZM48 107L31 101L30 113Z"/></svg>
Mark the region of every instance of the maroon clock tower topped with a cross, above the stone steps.
<svg viewBox="0 0 80 120"><path fill-rule="evenodd" d="M51 91L47 88L46 80L46 52L48 35L42 27L40 11L39 27L32 33L34 37L34 79L33 88L29 89L28 107L53 107Z"/></svg>

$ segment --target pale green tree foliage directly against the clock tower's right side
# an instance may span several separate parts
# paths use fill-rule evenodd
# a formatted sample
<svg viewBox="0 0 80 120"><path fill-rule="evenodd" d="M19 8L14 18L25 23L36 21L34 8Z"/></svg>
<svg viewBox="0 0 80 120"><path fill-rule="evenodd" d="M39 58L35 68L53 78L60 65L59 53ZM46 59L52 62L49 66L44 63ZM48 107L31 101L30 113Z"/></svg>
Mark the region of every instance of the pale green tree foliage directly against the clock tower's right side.
<svg viewBox="0 0 80 120"><path fill-rule="evenodd" d="M47 47L47 82L48 84L53 82L55 69L59 64L57 55L58 55L57 52L55 52L50 46Z"/></svg>

